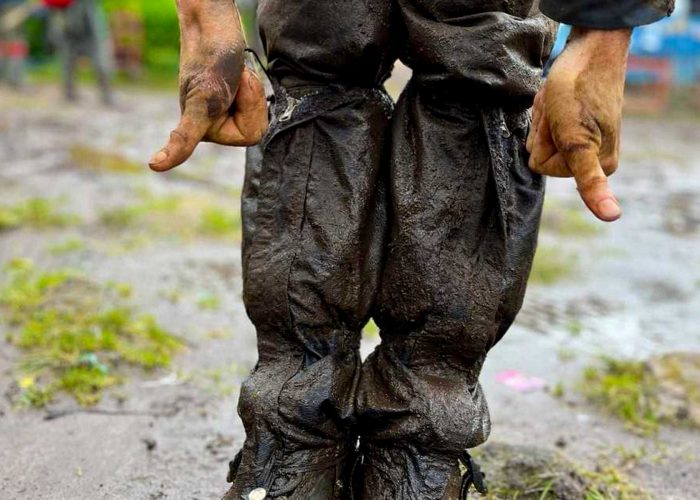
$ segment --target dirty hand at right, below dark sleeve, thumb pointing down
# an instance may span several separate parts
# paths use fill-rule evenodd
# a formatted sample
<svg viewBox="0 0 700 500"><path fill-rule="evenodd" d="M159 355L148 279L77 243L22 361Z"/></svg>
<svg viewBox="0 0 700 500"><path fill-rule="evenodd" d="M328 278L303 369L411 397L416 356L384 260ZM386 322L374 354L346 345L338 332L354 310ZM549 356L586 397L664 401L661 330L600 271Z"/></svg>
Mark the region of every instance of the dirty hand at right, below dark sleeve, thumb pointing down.
<svg viewBox="0 0 700 500"><path fill-rule="evenodd" d="M583 201L607 222L622 215L607 178L619 160L630 36L630 30L574 28L535 97L527 139L530 168L575 177Z"/></svg>

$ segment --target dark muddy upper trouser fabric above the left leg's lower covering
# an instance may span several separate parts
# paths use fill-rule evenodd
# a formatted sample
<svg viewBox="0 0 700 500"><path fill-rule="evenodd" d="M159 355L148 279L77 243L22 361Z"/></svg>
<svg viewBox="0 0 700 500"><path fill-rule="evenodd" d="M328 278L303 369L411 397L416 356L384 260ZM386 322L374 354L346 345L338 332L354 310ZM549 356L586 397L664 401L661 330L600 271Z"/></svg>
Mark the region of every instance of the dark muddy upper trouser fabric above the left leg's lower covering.
<svg viewBox="0 0 700 500"><path fill-rule="evenodd" d="M402 43L393 0L260 0L269 69L282 85L375 87Z"/></svg>

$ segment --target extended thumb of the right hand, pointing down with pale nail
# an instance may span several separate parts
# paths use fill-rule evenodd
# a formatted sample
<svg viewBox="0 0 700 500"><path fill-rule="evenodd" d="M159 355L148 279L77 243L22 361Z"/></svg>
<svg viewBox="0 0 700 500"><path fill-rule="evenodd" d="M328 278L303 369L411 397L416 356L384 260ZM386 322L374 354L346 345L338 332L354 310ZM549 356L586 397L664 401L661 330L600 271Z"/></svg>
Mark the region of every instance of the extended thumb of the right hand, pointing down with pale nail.
<svg viewBox="0 0 700 500"><path fill-rule="evenodd" d="M584 149L566 153L565 159L588 209L605 222L619 219L622 209L610 189L598 155L591 149Z"/></svg>

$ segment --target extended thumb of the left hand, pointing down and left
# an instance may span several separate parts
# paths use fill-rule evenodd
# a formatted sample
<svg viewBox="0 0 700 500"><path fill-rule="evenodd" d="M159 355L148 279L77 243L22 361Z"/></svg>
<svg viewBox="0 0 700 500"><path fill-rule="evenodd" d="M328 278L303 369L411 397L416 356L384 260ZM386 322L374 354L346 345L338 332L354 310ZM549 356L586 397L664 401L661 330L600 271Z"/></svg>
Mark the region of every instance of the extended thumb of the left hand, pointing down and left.
<svg viewBox="0 0 700 500"><path fill-rule="evenodd" d="M185 108L177 128L170 133L167 144L158 151L148 162L151 170L165 172L182 165L194 152L204 134L211 126L207 119L203 119L200 113Z"/></svg>

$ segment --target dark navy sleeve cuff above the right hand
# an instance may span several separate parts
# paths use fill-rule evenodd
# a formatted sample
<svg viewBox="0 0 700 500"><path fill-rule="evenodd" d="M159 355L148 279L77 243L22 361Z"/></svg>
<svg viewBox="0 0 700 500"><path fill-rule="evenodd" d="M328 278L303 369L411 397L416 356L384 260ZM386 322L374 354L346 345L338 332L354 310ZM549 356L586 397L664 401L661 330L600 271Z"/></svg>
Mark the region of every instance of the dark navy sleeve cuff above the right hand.
<svg viewBox="0 0 700 500"><path fill-rule="evenodd" d="M541 0L550 18L583 28L620 29L651 24L673 13L675 0Z"/></svg>

